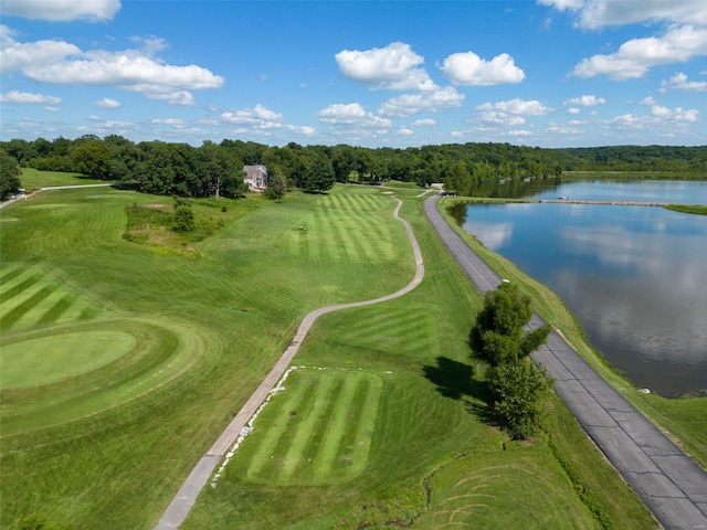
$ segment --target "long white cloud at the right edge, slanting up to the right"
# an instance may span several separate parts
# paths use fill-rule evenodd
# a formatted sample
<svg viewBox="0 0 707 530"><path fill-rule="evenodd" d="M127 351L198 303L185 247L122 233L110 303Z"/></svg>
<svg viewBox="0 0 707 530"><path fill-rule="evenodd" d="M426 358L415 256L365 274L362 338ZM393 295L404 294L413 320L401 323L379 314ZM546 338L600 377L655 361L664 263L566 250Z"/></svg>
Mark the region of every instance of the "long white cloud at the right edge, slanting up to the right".
<svg viewBox="0 0 707 530"><path fill-rule="evenodd" d="M674 26L661 36L624 42L615 53L584 59L572 73L584 78L608 75L625 81L643 77L653 66L685 62L696 55L707 55L707 28Z"/></svg>

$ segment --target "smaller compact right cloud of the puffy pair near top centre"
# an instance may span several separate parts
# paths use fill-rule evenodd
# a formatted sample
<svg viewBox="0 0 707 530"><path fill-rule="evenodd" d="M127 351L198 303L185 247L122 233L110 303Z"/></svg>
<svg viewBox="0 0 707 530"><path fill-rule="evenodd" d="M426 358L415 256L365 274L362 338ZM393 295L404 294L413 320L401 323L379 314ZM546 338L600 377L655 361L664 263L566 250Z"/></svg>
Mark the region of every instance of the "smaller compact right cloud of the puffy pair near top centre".
<svg viewBox="0 0 707 530"><path fill-rule="evenodd" d="M526 77L507 53L490 61L481 59L474 52L454 53L444 60L440 68L455 85L490 86L520 83Z"/></svg>

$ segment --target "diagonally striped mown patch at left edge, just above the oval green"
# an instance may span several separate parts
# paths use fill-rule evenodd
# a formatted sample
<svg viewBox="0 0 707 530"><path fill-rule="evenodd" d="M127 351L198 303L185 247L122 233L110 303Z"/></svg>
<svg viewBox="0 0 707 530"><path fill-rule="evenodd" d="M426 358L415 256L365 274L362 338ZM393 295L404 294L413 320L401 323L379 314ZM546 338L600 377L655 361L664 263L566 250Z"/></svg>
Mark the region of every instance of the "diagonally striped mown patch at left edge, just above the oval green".
<svg viewBox="0 0 707 530"><path fill-rule="evenodd" d="M17 266L0 277L0 331L95 318L103 311L36 266Z"/></svg>

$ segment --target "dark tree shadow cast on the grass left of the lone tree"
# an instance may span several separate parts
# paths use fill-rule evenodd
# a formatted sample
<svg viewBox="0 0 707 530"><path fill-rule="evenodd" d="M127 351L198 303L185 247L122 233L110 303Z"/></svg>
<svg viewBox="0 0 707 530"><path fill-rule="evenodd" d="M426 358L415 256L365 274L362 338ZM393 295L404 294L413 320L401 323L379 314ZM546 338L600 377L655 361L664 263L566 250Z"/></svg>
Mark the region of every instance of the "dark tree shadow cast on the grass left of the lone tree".
<svg viewBox="0 0 707 530"><path fill-rule="evenodd" d="M452 400L463 400L466 410L487 424L495 424L489 406L494 401L490 385L474 378L474 368L469 364L449 359L436 358L437 365L424 365L424 377L436 384L437 392Z"/></svg>

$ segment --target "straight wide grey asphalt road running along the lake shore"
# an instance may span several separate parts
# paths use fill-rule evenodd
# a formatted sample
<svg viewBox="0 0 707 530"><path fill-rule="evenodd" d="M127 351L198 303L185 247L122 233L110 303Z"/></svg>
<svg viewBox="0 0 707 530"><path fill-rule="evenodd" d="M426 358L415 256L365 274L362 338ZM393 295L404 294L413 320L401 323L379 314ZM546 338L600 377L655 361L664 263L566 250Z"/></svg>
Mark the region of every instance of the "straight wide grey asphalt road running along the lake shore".
<svg viewBox="0 0 707 530"><path fill-rule="evenodd" d="M502 278L444 221L439 195L425 212L452 255L483 294ZM530 328L545 324L534 314ZM557 332L534 356L584 431L669 530L707 529L707 473L593 370Z"/></svg>

